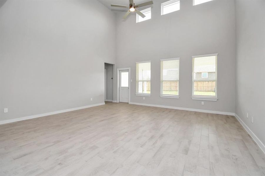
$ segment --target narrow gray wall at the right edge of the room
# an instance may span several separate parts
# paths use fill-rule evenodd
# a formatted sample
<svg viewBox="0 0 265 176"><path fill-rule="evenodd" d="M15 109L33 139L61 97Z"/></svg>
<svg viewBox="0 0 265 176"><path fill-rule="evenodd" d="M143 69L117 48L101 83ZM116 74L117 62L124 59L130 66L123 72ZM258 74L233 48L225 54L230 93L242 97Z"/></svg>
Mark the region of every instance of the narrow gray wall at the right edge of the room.
<svg viewBox="0 0 265 176"><path fill-rule="evenodd" d="M265 144L265 1L240 0L235 7L236 114Z"/></svg>

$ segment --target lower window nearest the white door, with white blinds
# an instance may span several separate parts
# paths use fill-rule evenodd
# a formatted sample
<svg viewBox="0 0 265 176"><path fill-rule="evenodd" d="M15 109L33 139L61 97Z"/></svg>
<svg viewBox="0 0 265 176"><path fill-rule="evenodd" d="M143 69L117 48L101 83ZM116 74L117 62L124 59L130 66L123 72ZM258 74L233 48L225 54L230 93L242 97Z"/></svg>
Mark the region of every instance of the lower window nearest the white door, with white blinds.
<svg viewBox="0 0 265 176"><path fill-rule="evenodd" d="M151 94L151 61L136 62L136 95Z"/></svg>

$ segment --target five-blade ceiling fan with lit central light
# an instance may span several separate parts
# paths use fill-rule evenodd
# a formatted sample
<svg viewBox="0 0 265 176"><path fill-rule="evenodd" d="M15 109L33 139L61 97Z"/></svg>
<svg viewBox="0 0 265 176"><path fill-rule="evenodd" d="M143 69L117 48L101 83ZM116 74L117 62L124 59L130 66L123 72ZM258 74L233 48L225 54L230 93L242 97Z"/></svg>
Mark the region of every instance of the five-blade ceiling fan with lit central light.
<svg viewBox="0 0 265 176"><path fill-rule="evenodd" d="M129 0L129 3L130 3L129 6L122 6L122 5L116 5L116 4L111 4L111 6L112 7L129 8L129 11L127 11L127 13L123 16L123 19L125 19L129 15L129 13L134 12L134 11L136 11L136 13L138 15L140 15L142 18L144 18L145 15L142 12L140 12L139 10L137 10L136 8L154 4L153 1L147 1L147 2L144 2L144 3L138 4L138 5L135 5L134 4L134 0Z"/></svg>

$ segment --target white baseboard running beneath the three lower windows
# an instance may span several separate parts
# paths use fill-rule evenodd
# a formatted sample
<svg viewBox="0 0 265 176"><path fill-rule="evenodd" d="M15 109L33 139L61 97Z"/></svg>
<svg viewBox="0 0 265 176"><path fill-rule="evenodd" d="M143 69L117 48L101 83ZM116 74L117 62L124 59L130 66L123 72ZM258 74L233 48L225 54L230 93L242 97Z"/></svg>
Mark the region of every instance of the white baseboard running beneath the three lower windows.
<svg viewBox="0 0 265 176"><path fill-rule="evenodd" d="M176 107L176 106L164 106L164 105L157 105L157 104L145 104L145 103L135 103L135 102L129 102L129 104L137 104L137 105L142 105L142 106L154 106L154 107L159 107L159 108L179 109L179 110L185 110L185 111L206 112L206 113L212 113L212 114L223 114L223 115L230 115L230 116L235 115L235 113L233 112L210 111L210 110L204 110L204 109L182 108L182 107Z"/></svg>

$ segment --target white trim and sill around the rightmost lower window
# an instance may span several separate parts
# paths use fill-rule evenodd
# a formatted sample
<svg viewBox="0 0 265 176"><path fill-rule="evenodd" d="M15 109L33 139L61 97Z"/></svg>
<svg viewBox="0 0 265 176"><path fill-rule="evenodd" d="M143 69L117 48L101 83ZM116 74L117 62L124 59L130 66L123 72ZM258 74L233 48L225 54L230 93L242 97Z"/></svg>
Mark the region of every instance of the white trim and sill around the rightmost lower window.
<svg viewBox="0 0 265 176"><path fill-rule="evenodd" d="M208 56L217 56L218 53L214 53L214 54L205 54L205 55L195 55L192 56L192 76L193 76L193 60L195 57L208 57ZM217 58L218 59L218 58ZM193 79L192 79L192 92L191 92L191 99L193 100L204 100L204 101L217 101L217 59L215 60L215 72L216 72L216 82L215 82L215 96L196 96L193 95L193 90L194 90L194 84L193 84Z"/></svg>

